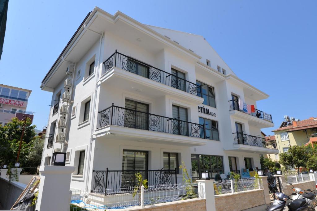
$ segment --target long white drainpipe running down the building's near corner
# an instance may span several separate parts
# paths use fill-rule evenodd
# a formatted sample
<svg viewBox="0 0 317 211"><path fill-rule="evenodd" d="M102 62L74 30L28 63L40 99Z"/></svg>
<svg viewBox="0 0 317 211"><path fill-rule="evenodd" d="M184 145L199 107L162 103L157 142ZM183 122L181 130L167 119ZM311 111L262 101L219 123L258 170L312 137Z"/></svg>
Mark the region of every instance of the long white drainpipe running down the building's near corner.
<svg viewBox="0 0 317 211"><path fill-rule="evenodd" d="M94 90L94 104L92 105L92 119L91 119L91 132L90 132L90 142L89 142L89 152L87 155L88 158L88 166L87 166L87 183L86 183L86 193L88 193L88 182L89 182L89 175L90 175L90 162L91 162L91 151L92 151L92 145L93 145L93 135L94 135L94 120L95 120L95 115L96 115L96 102L97 102L97 90L98 90L98 82L99 82L99 72L100 69L102 70L102 65L100 68L100 64L102 64L102 62L100 62L101 59L101 43L102 43L102 38L103 38L103 32L101 32L100 34L100 41L99 41L99 59L98 59L98 71L96 72L96 83L95 83L95 90ZM98 109L97 109L98 110Z"/></svg>

